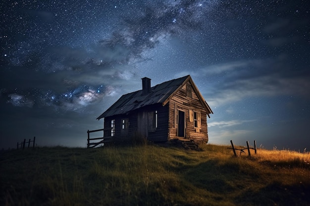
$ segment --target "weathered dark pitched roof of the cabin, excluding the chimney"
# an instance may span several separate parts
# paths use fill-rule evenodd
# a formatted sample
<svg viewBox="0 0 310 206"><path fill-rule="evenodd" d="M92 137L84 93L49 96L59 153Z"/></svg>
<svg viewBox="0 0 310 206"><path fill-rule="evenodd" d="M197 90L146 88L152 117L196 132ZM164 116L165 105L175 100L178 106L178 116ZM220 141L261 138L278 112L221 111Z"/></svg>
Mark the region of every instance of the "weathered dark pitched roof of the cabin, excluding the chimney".
<svg viewBox="0 0 310 206"><path fill-rule="evenodd" d="M207 111L207 115L209 116L209 114L213 114L212 110L207 105L207 102L200 94L197 86L193 82L191 76L188 75L175 80L170 80L157 84L151 87L151 91L146 95L143 95L143 90L124 94L110 108L103 112L103 114L100 115L97 119L100 120L104 117L126 114L130 111L156 103L162 103L162 106L164 106L169 102L173 95L178 92L178 90L181 89L183 85L185 85L188 81L190 81L193 85L194 91L197 93L198 98L200 99Z"/></svg>

